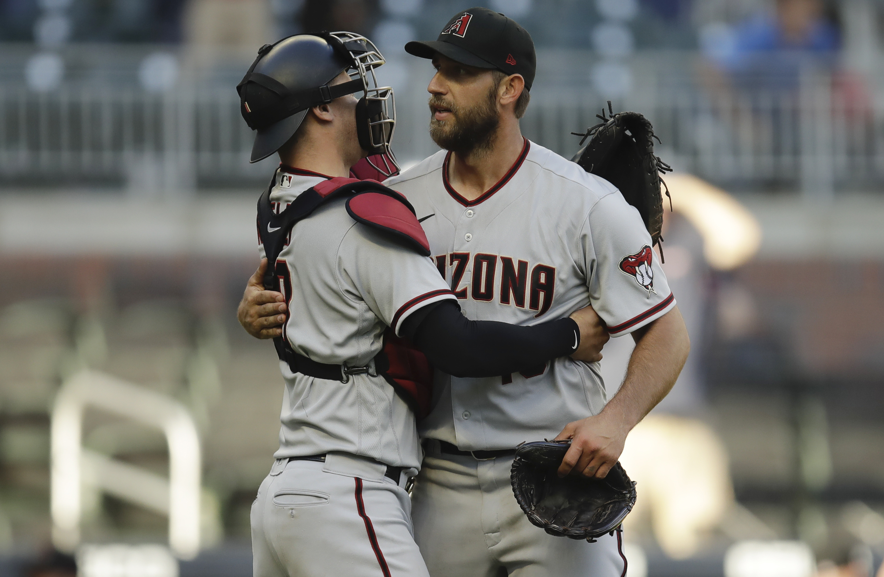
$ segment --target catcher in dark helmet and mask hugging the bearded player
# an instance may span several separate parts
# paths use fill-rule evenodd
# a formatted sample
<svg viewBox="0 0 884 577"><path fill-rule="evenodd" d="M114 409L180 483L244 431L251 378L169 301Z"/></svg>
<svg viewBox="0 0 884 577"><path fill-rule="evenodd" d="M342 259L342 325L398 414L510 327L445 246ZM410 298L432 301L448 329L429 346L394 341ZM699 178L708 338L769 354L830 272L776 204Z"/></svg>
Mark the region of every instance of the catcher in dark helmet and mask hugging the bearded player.
<svg viewBox="0 0 884 577"><path fill-rule="evenodd" d="M580 346L585 313L534 327L466 319L408 200L347 178L360 158L389 155L383 64L362 36L295 35L259 50L237 87L258 133L252 161L278 151L284 163L258 202L263 282L287 314L280 446L251 513L256 577L428 574L406 491L422 458L414 412L429 400L421 351L464 376L595 356Z"/></svg>

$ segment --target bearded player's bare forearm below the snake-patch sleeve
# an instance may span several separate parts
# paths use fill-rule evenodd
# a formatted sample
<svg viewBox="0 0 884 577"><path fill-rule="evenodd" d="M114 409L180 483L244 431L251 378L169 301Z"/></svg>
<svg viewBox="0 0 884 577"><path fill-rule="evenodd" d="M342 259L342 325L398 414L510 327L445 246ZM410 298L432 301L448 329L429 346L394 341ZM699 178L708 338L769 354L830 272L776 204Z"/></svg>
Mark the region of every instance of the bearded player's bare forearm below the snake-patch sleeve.
<svg viewBox="0 0 884 577"><path fill-rule="evenodd" d="M626 378L602 411L615 414L628 430L667 396L690 352L688 330L678 307L636 333Z"/></svg>

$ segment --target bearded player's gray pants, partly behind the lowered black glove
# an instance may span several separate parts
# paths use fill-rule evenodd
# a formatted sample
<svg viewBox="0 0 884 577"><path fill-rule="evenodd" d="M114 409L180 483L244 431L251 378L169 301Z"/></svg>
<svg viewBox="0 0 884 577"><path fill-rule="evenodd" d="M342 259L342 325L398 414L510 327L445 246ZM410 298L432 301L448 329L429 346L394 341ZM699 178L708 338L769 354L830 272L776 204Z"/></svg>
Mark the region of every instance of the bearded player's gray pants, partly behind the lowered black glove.
<svg viewBox="0 0 884 577"><path fill-rule="evenodd" d="M431 577L620 577L616 535L547 535L516 503L513 458L442 454L427 443L412 493L415 540Z"/></svg>

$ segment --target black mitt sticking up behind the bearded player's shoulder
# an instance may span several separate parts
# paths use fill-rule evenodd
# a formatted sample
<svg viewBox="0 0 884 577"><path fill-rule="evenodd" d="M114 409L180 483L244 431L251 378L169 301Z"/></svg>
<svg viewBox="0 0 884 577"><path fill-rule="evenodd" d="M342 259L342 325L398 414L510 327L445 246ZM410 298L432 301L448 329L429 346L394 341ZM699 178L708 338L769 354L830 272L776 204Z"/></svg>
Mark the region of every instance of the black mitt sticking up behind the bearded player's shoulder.
<svg viewBox="0 0 884 577"><path fill-rule="evenodd" d="M654 155L654 129L648 119L638 112L613 113L608 101L610 118L605 110L596 116L601 124L587 128L585 133L572 132L583 136L580 145L590 138L590 142L578 150L571 158L587 173L593 173L620 189L626 202L632 204L642 215L644 226L651 233L652 246L662 242L660 231L663 228L663 196L660 194L660 173L672 171L665 162ZM659 142L659 138L657 138ZM666 183L663 183L666 186ZM666 196L669 196L667 188ZM672 197L669 200L672 210ZM660 246L660 257L663 257Z"/></svg>

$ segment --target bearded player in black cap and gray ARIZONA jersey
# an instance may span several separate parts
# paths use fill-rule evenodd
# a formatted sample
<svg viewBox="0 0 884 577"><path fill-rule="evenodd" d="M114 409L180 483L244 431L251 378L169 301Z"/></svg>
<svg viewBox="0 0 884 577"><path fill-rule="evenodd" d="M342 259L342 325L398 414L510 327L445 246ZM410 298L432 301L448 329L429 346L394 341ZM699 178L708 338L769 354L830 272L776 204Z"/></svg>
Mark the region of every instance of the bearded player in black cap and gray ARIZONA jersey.
<svg viewBox="0 0 884 577"><path fill-rule="evenodd" d="M672 388L690 343L652 235L611 182L522 137L536 58L514 20L470 8L406 50L436 69L431 137L443 150L385 183L414 205L463 313L534 325L591 304L612 336L636 341L613 397L597 365L568 359L487 378L437 370L419 424L415 541L433 577L621 575L615 537L589 545L534 527L510 470L517 445L558 435L571 440L561 475L606 477L629 430ZM279 305L261 309L259 294L247 290L240 321L267 335L277 323L263 317Z"/></svg>

